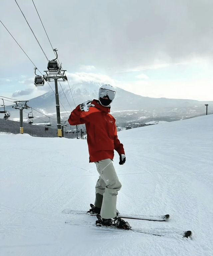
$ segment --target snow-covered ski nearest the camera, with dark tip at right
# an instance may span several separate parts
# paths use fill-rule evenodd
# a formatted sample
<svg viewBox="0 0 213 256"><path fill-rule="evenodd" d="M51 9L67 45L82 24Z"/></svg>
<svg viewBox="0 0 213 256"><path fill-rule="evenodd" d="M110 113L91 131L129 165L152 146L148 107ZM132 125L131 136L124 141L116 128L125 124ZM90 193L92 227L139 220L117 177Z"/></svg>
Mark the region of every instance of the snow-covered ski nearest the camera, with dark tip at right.
<svg viewBox="0 0 213 256"><path fill-rule="evenodd" d="M141 228L130 228L130 229L117 229L116 227L113 226L103 226L103 225L96 225L95 223L90 223L90 222L84 222L84 223L75 223L74 221L66 221L66 224L70 224L70 225L78 225L78 226L90 226L90 227L98 227L102 230L108 230L108 229L113 229L113 231L117 231L117 232L135 232L135 233L143 233L143 234L147 234L147 235L153 235L153 236L171 236L171 235L179 235L181 238L190 238L192 236L192 231L188 230L188 231L183 231L183 232L176 232L176 231L171 231L171 230L167 230L167 231L160 231L160 230L145 230L145 229L141 229Z"/></svg>

